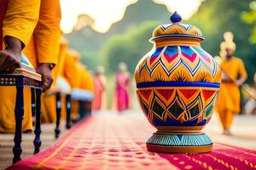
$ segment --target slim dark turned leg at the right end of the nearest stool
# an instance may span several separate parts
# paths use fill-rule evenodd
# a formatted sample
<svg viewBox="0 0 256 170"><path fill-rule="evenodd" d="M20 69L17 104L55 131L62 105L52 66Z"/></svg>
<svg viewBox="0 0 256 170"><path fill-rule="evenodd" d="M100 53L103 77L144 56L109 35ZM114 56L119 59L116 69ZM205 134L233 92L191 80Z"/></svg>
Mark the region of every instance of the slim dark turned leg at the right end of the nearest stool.
<svg viewBox="0 0 256 170"><path fill-rule="evenodd" d="M36 89L36 127L34 130L35 139L34 143L34 154L37 154L40 150L42 141L40 139L41 134L41 89Z"/></svg>

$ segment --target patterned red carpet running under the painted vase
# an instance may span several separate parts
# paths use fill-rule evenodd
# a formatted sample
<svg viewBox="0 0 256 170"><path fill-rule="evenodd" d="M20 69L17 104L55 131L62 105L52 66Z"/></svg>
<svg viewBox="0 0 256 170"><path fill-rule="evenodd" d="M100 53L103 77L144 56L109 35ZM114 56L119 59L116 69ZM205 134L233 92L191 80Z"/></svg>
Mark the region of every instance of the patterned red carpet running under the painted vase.
<svg viewBox="0 0 256 170"><path fill-rule="evenodd" d="M150 153L145 141L152 132L142 116L92 116L8 169L256 169L255 150L227 144L214 144L207 154Z"/></svg>

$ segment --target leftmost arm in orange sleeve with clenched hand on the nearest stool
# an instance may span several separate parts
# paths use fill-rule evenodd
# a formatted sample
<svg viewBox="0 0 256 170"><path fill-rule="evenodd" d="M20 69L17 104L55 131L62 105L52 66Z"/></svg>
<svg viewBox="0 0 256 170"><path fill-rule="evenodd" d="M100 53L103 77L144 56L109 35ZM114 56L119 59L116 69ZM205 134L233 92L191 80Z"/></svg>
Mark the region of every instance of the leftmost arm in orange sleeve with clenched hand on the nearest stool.
<svg viewBox="0 0 256 170"><path fill-rule="evenodd" d="M0 51L1 72L12 72L20 67L20 51L32 36L38 21L39 6L40 0L9 1L3 19L6 48Z"/></svg>

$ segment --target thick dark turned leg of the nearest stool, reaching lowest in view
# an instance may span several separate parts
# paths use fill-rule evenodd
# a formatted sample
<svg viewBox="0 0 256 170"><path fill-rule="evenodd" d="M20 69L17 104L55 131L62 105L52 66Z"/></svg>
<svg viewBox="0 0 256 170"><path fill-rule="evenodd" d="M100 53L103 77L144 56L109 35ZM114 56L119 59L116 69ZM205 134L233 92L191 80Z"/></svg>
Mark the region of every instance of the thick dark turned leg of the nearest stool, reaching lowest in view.
<svg viewBox="0 0 256 170"><path fill-rule="evenodd" d="M14 159L13 163L20 161L22 152L22 119L24 116L24 94L23 87L16 87L16 102L15 102L15 146L13 148Z"/></svg>

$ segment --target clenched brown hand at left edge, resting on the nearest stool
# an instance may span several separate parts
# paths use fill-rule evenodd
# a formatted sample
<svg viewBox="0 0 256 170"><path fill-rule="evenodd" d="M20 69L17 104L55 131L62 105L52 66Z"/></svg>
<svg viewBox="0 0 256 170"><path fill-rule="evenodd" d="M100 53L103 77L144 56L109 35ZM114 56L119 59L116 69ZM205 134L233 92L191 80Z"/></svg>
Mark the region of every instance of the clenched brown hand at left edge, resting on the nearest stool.
<svg viewBox="0 0 256 170"><path fill-rule="evenodd" d="M0 71L9 73L20 67L20 52L15 49L0 51Z"/></svg>

